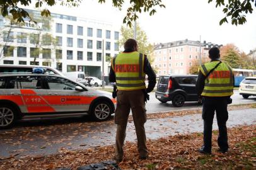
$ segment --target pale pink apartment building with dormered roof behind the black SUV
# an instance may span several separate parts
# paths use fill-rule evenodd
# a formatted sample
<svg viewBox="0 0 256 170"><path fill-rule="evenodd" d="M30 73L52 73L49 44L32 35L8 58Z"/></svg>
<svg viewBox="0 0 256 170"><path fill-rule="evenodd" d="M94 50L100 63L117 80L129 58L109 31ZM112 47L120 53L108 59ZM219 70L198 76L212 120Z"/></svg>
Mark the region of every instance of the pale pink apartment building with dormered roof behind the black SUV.
<svg viewBox="0 0 256 170"><path fill-rule="evenodd" d="M156 75L189 74L193 60L208 57L208 50L211 47L221 45L187 39L155 45L152 65L158 70Z"/></svg>

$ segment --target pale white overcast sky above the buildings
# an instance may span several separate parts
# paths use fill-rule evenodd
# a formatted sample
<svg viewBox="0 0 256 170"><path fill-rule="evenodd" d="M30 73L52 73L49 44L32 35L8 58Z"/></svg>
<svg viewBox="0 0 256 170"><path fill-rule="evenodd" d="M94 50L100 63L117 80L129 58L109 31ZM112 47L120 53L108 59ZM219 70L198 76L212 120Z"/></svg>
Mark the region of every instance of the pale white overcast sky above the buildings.
<svg viewBox="0 0 256 170"><path fill-rule="evenodd" d="M77 8L60 5L47 8L52 13L108 21L119 28L123 25L122 20L129 4L124 4L124 8L119 11L112 6L111 0L106 1L105 4L99 4L98 0L83 0ZM222 8L215 8L214 3L208 4L207 1L163 0L166 8L156 8L153 16L149 16L149 13L138 14L137 23L146 32L149 43L166 43L186 38L200 40L201 36L201 41L222 45L233 43L245 53L256 48L255 6L253 14L247 14L247 23L244 25L231 25L228 20L229 23L219 26L219 21L224 17Z"/></svg>

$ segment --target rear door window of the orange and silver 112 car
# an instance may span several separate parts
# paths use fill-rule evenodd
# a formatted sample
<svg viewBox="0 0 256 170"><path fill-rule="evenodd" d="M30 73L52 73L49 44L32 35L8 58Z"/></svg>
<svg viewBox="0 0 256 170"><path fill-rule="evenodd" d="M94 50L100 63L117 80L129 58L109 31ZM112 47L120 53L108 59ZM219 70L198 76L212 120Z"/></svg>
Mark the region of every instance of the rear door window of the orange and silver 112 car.
<svg viewBox="0 0 256 170"><path fill-rule="evenodd" d="M9 81L10 84L15 82ZM43 84L40 76L17 76L14 84L17 89L42 89Z"/></svg>

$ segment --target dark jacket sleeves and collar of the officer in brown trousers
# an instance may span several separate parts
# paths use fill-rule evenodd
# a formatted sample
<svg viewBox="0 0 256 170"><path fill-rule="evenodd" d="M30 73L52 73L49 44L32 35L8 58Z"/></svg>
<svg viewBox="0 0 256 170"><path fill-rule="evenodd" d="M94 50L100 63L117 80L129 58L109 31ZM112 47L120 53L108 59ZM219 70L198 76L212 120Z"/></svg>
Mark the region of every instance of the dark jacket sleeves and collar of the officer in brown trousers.
<svg viewBox="0 0 256 170"><path fill-rule="evenodd" d="M132 52L133 50L124 50L124 52ZM156 74L154 73L151 65L148 61L148 58L145 55L144 59L144 72L148 75L148 88L146 89L147 93L153 91L154 86L156 85ZM108 81L116 82L115 81L115 72L113 71L112 67L110 67Z"/></svg>

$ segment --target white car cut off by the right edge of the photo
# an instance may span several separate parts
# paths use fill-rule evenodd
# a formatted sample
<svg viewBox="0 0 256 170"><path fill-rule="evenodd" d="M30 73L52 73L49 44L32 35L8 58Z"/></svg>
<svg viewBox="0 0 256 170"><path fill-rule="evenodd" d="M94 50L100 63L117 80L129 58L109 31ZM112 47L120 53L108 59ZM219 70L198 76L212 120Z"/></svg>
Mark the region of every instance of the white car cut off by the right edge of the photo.
<svg viewBox="0 0 256 170"><path fill-rule="evenodd" d="M256 96L256 77L246 77L241 81L239 94L247 99L249 96Z"/></svg>

